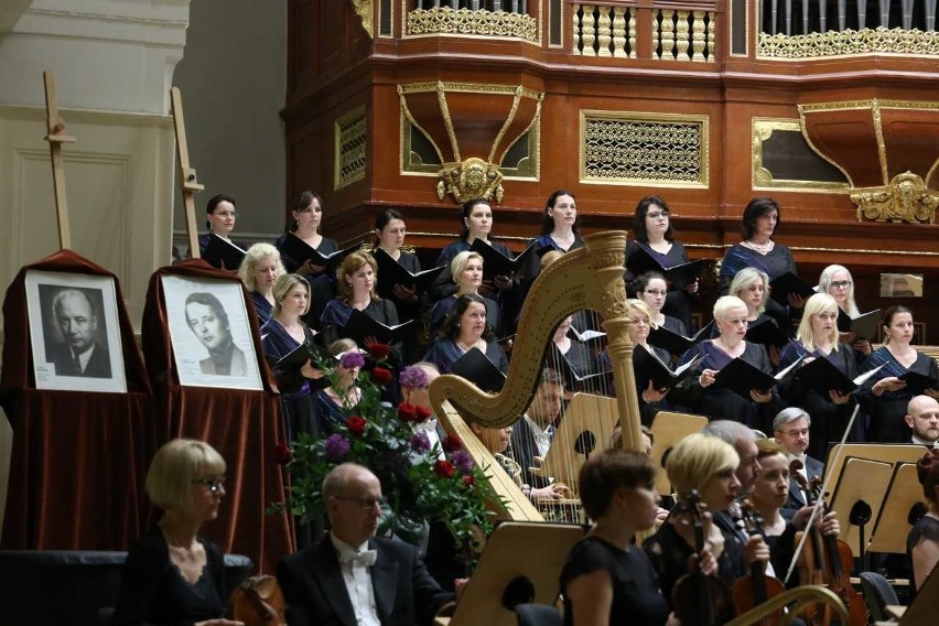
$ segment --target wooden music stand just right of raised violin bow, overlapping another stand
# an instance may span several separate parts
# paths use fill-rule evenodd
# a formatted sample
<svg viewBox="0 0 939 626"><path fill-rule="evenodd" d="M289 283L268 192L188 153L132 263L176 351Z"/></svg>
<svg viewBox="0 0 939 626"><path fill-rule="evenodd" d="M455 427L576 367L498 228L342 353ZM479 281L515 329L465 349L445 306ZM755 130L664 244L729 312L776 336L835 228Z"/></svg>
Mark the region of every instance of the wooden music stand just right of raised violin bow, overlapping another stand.
<svg viewBox="0 0 939 626"><path fill-rule="evenodd" d="M840 539L844 539L851 551L863 559L866 546L863 528L849 524L851 509L859 501L866 503L872 511L878 511L884 504L884 495L894 473L894 466L883 461L867 458L846 458L842 465L829 501L831 510L841 520Z"/></svg>

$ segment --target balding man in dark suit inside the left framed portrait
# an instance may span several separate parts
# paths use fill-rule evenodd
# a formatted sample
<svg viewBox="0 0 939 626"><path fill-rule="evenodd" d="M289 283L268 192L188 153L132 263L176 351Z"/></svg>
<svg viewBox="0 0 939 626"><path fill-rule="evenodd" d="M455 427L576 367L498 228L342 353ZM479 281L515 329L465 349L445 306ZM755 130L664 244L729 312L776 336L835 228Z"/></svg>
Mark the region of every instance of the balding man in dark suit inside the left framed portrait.
<svg viewBox="0 0 939 626"><path fill-rule="evenodd" d="M55 374L110 378L110 357L97 342L99 315L88 294L80 289L63 289L52 299L52 313L65 341L51 355Z"/></svg>

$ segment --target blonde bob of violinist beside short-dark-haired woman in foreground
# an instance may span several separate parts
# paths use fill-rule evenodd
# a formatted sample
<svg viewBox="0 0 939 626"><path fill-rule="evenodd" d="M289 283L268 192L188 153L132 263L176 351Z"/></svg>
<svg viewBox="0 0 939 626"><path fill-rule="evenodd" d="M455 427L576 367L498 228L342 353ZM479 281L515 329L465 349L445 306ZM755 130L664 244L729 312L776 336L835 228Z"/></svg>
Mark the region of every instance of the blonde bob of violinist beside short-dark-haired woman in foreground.
<svg viewBox="0 0 939 626"><path fill-rule="evenodd" d="M676 494L684 498L692 489L702 493L708 481L726 470L736 470L740 462L733 445L698 432L686 436L671 450L666 473Z"/></svg>

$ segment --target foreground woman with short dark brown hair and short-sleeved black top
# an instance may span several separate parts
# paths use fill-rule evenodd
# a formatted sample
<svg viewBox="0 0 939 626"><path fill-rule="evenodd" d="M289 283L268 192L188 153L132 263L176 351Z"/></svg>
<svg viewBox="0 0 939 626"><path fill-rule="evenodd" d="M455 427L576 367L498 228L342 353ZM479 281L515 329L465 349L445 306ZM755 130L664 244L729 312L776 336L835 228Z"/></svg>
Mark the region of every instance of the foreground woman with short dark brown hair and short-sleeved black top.
<svg viewBox="0 0 939 626"><path fill-rule="evenodd" d="M676 624L648 557L633 543L656 524L655 475L647 455L618 449L581 468L581 503L594 524L561 572L565 626Z"/></svg>

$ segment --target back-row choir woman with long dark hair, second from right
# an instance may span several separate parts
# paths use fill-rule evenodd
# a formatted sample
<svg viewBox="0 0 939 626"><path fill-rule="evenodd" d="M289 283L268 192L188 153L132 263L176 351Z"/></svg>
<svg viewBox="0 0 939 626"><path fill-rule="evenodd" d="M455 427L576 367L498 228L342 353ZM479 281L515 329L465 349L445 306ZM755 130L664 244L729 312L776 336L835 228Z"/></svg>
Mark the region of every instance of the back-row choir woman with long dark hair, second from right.
<svg viewBox="0 0 939 626"><path fill-rule="evenodd" d="M681 241L674 238L671 226L671 212L660 196L646 196L636 205L633 219L635 239L626 246L626 282L636 277L634 268L639 249L645 250L663 269L680 266L689 261L688 252ZM691 327L691 307L697 302L698 281L688 284L668 287L662 311L681 321L686 328Z"/></svg>

